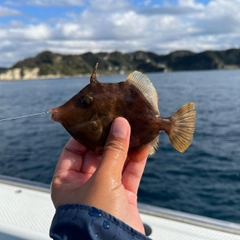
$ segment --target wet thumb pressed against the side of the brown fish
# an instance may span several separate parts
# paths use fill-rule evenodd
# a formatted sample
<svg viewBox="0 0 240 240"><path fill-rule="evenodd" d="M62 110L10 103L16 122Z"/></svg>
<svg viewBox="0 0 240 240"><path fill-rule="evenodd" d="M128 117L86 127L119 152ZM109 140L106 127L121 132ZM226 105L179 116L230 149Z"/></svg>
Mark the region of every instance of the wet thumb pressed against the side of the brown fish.
<svg viewBox="0 0 240 240"><path fill-rule="evenodd" d="M121 181L122 169L127 158L130 125L125 118L116 118L111 126L98 171L108 178Z"/></svg>

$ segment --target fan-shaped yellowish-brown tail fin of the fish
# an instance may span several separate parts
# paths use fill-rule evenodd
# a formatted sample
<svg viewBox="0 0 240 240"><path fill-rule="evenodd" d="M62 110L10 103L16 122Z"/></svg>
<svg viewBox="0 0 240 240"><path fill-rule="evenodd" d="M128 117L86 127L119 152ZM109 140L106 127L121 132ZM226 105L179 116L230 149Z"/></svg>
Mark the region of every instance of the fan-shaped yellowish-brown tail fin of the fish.
<svg viewBox="0 0 240 240"><path fill-rule="evenodd" d="M195 104L193 102L185 104L170 119L172 129L168 137L176 150L184 152L193 139L196 119Z"/></svg>

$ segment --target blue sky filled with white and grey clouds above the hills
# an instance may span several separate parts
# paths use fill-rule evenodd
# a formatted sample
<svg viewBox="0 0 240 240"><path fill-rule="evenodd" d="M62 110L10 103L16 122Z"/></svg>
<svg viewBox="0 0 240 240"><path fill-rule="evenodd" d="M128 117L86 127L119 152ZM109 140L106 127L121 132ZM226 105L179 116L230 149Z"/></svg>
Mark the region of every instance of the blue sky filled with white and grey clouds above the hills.
<svg viewBox="0 0 240 240"><path fill-rule="evenodd" d="M44 50L240 47L240 0L0 0L0 67Z"/></svg>

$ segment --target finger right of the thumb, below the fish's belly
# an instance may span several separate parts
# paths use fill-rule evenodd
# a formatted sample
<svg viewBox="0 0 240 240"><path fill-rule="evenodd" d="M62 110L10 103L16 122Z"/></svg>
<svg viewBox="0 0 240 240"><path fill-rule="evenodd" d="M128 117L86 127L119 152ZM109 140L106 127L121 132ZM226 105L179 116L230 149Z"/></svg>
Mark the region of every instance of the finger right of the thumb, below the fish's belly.
<svg viewBox="0 0 240 240"><path fill-rule="evenodd" d="M137 194L142 174L149 155L150 145L129 155L129 161L126 163L122 173L122 183L125 189Z"/></svg>

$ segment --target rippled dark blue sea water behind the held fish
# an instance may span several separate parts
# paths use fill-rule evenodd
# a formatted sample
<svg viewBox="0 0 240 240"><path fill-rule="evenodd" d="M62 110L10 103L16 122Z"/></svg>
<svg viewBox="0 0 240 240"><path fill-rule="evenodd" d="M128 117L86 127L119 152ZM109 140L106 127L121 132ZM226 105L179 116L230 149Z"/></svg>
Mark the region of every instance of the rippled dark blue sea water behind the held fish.
<svg viewBox="0 0 240 240"><path fill-rule="evenodd" d="M196 104L192 145L178 153L165 133L148 159L138 200L240 223L240 70L147 74L159 95L161 116ZM126 78L99 76L101 82ZM0 82L0 119L59 106L88 77ZM0 122L0 174L50 183L69 139L49 115Z"/></svg>

